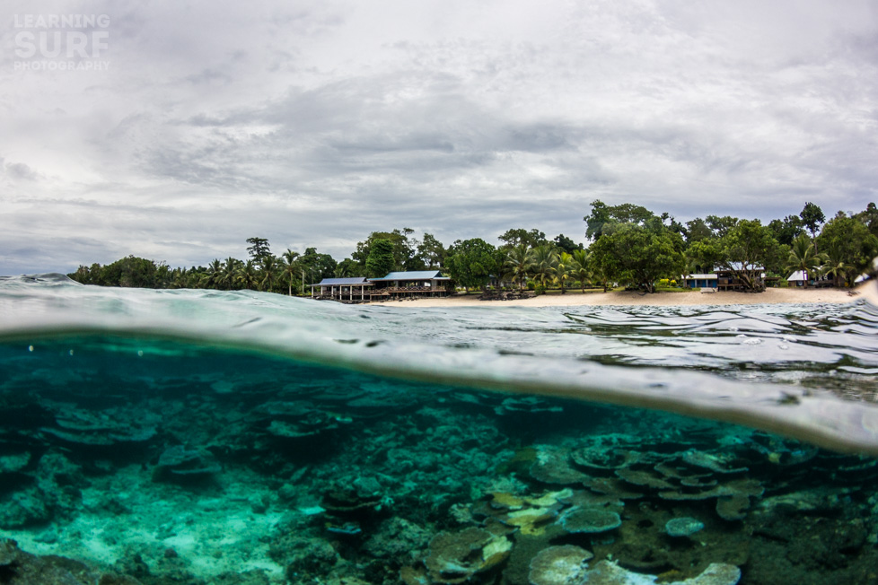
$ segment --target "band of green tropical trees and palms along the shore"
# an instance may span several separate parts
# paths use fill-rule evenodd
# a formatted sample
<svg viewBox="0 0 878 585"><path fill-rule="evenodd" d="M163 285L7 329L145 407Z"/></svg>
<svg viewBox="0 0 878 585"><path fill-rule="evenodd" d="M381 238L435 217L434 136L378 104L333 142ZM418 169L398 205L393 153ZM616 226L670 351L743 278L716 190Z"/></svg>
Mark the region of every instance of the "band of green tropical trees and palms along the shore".
<svg viewBox="0 0 878 585"><path fill-rule="evenodd" d="M593 201L584 216L585 240L543 231L510 229L495 246L480 238L448 247L432 234L409 228L373 231L349 258L337 262L315 248L274 254L265 238L249 238L248 258L215 259L207 266L171 268L129 256L101 266L79 266L69 276L83 284L149 288L208 288L272 293L310 293L323 278L380 277L401 270L441 270L468 291L488 285L520 289L576 286L607 290L617 284L654 292L662 279L725 269L745 287L759 290L759 276L786 278L795 271L822 275L836 286L853 284L878 256L878 208L839 211L827 220L818 205L763 225L758 219L707 215L687 223L641 205ZM807 281L806 281L807 285Z"/></svg>

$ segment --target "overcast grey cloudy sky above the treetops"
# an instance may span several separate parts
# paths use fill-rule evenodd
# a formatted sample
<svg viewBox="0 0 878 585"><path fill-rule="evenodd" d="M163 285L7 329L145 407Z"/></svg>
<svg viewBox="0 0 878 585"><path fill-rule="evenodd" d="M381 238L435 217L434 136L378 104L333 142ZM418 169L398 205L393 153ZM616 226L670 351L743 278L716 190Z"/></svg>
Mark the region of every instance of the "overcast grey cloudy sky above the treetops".
<svg viewBox="0 0 878 585"><path fill-rule="evenodd" d="M0 275L878 200L878 0L7 0L0 48Z"/></svg>

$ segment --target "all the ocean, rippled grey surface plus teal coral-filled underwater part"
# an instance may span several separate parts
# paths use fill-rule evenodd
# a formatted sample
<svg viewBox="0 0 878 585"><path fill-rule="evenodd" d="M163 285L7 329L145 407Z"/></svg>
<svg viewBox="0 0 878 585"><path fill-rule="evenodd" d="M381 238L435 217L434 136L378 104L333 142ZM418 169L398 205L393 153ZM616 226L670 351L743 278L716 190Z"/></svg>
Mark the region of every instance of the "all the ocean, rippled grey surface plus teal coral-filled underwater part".
<svg viewBox="0 0 878 585"><path fill-rule="evenodd" d="M0 582L878 583L876 378L865 301L0 278Z"/></svg>

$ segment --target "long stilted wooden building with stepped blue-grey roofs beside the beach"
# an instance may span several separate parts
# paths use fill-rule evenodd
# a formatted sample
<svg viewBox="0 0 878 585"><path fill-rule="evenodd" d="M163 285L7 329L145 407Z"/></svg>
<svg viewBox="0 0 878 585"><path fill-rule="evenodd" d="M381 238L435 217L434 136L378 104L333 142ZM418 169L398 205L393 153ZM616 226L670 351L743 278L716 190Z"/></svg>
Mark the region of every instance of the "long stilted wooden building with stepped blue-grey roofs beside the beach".
<svg viewBox="0 0 878 585"><path fill-rule="evenodd" d="M311 285L314 299L341 302L387 301L399 298L435 297L448 294L451 278L438 270L391 272L382 278L324 278Z"/></svg>

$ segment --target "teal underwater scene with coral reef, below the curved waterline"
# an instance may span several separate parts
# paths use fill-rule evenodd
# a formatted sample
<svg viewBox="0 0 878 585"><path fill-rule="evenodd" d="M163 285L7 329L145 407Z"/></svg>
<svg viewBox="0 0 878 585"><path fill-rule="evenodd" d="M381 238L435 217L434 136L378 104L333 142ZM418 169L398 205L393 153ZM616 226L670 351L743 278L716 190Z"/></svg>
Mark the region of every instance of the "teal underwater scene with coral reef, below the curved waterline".
<svg viewBox="0 0 878 585"><path fill-rule="evenodd" d="M0 583L878 582L875 458L149 338L0 364Z"/></svg>

